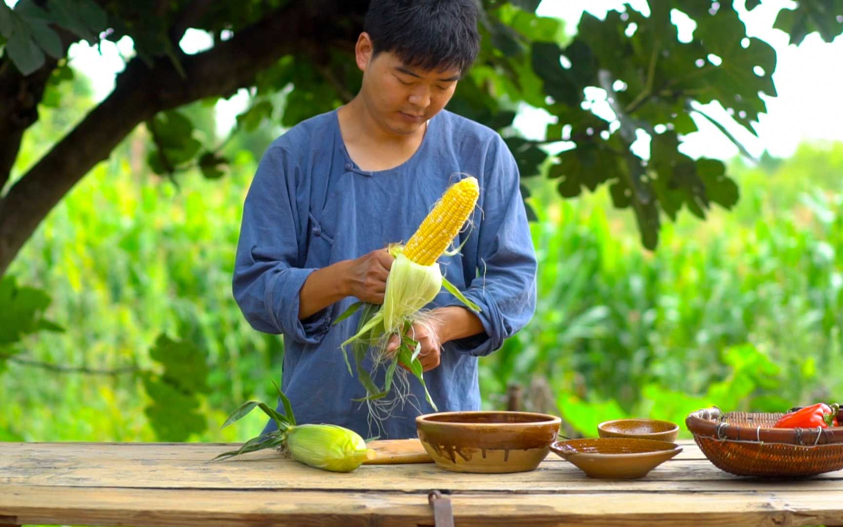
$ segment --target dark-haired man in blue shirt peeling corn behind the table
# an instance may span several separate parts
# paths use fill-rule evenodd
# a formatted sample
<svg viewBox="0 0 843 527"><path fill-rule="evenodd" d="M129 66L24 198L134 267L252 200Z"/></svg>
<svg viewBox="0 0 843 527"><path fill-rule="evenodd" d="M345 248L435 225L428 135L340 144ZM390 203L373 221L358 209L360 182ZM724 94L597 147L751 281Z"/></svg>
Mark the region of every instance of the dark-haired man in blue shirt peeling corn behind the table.
<svg viewBox="0 0 843 527"><path fill-rule="evenodd" d="M282 390L298 422L369 435L366 406L352 402L366 391L340 350L359 315L331 322L358 299L383 303L386 245L409 239L459 173L479 180L479 209L460 254L439 261L481 313L441 293L430 306L438 322L415 328L440 411L480 409L478 357L533 315L536 261L513 156L496 132L443 110L477 56L477 14L475 0L373 0L356 46L360 93L294 126L260 161L234 298L255 329L283 334ZM374 380L383 385L384 372ZM410 389L432 411L415 379ZM380 437L415 437L416 415L396 407Z"/></svg>

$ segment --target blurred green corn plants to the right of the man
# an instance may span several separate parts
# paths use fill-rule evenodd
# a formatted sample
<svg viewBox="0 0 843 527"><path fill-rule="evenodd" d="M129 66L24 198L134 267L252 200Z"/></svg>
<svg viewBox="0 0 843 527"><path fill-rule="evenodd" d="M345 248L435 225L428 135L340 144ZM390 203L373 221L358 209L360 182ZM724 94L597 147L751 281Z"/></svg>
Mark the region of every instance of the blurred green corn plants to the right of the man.
<svg viewBox="0 0 843 527"><path fill-rule="evenodd" d="M537 183L539 305L481 363L486 405L521 384L528 409L593 435L615 417L836 401L821 365L843 358L843 193L819 188L840 188L839 148L738 167L748 199L705 225L680 217L652 254L605 191L557 203Z"/></svg>

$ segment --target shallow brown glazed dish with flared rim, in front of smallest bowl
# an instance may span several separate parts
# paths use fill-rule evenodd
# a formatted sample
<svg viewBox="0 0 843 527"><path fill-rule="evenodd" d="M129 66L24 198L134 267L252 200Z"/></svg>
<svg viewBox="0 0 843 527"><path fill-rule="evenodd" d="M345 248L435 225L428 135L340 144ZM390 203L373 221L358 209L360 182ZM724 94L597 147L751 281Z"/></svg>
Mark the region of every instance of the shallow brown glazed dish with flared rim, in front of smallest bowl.
<svg viewBox="0 0 843 527"><path fill-rule="evenodd" d="M682 451L682 447L667 441L636 438L570 439L556 441L550 449L586 475L606 480L647 476Z"/></svg>

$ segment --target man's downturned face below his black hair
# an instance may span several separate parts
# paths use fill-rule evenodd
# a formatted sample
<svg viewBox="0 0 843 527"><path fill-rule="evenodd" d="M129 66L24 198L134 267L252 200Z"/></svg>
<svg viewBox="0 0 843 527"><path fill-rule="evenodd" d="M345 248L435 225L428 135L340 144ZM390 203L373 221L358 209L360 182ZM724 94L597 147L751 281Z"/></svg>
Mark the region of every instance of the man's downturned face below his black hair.
<svg viewBox="0 0 843 527"><path fill-rule="evenodd" d="M459 70L424 71L383 51L368 56L362 95L375 121L398 135L411 135L438 114L454 95Z"/></svg>

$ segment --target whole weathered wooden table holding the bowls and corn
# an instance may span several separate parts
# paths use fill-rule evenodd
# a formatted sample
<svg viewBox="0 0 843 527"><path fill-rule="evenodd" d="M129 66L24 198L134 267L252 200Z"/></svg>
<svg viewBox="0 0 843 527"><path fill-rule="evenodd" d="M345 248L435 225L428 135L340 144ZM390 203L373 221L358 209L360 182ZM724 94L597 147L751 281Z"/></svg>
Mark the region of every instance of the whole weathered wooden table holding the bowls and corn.
<svg viewBox="0 0 843 527"><path fill-rule="evenodd" d="M432 489L450 494L458 527L843 524L843 471L738 478L684 444L645 479L599 481L554 454L519 474L336 474L266 450L207 463L231 444L0 443L0 525L432 525Z"/></svg>

